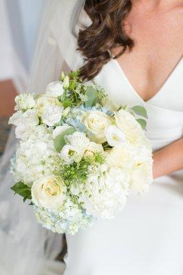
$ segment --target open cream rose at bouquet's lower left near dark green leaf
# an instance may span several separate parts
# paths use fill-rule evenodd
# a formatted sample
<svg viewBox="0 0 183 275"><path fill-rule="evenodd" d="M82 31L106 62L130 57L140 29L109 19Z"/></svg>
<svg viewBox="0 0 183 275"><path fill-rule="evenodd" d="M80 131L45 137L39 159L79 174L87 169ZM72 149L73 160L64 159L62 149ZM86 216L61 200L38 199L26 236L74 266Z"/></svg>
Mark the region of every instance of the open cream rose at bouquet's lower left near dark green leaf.
<svg viewBox="0 0 183 275"><path fill-rule="evenodd" d="M54 176L42 177L32 185L32 201L36 206L59 209L65 199L66 188L63 180Z"/></svg>

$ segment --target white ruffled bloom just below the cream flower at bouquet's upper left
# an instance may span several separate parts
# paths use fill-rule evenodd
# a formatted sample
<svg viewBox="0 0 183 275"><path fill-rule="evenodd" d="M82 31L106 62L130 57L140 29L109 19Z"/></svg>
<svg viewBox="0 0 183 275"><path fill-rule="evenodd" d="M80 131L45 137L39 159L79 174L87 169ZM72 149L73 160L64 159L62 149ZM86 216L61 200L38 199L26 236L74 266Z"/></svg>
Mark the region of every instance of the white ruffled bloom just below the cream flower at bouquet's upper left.
<svg viewBox="0 0 183 275"><path fill-rule="evenodd" d="M47 105L41 115L43 123L47 126L54 126L56 123L60 122L62 112L63 107Z"/></svg>

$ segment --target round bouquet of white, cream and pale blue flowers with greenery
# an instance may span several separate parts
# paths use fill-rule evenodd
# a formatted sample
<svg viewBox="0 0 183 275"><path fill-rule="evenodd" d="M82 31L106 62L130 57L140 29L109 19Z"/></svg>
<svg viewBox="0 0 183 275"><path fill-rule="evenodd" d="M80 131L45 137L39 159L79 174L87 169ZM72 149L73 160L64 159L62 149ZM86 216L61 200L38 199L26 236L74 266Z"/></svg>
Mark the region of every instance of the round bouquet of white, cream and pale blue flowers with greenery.
<svg viewBox="0 0 183 275"><path fill-rule="evenodd" d="M79 72L62 73L44 94L21 94L15 102L12 190L30 200L45 228L75 234L97 218L114 218L132 192L149 190L152 152L143 107L116 107Z"/></svg>

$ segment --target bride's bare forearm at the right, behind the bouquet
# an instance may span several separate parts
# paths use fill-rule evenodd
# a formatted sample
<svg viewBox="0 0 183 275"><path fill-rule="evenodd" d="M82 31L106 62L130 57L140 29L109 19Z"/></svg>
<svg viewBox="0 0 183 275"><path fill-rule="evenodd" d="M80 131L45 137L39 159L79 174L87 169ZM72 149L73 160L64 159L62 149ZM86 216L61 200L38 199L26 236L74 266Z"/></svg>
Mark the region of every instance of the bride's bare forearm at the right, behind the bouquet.
<svg viewBox="0 0 183 275"><path fill-rule="evenodd" d="M153 154L153 178L183 168L183 138Z"/></svg>

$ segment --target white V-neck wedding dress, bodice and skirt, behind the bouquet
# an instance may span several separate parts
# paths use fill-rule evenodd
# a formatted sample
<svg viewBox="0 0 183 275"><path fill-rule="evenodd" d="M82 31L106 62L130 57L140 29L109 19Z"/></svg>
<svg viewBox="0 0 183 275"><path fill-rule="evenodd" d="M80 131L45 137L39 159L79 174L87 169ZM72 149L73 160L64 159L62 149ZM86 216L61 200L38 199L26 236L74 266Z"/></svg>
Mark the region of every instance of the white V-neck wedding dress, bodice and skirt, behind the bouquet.
<svg viewBox="0 0 183 275"><path fill-rule="evenodd" d="M95 78L109 98L147 109L147 137L153 150L183 134L183 60L158 94L144 102L118 61L111 60ZM92 228L67 235L64 275L182 275L183 170L153 181L150 192L131 197L114 220L99 219Z"/></svg>

